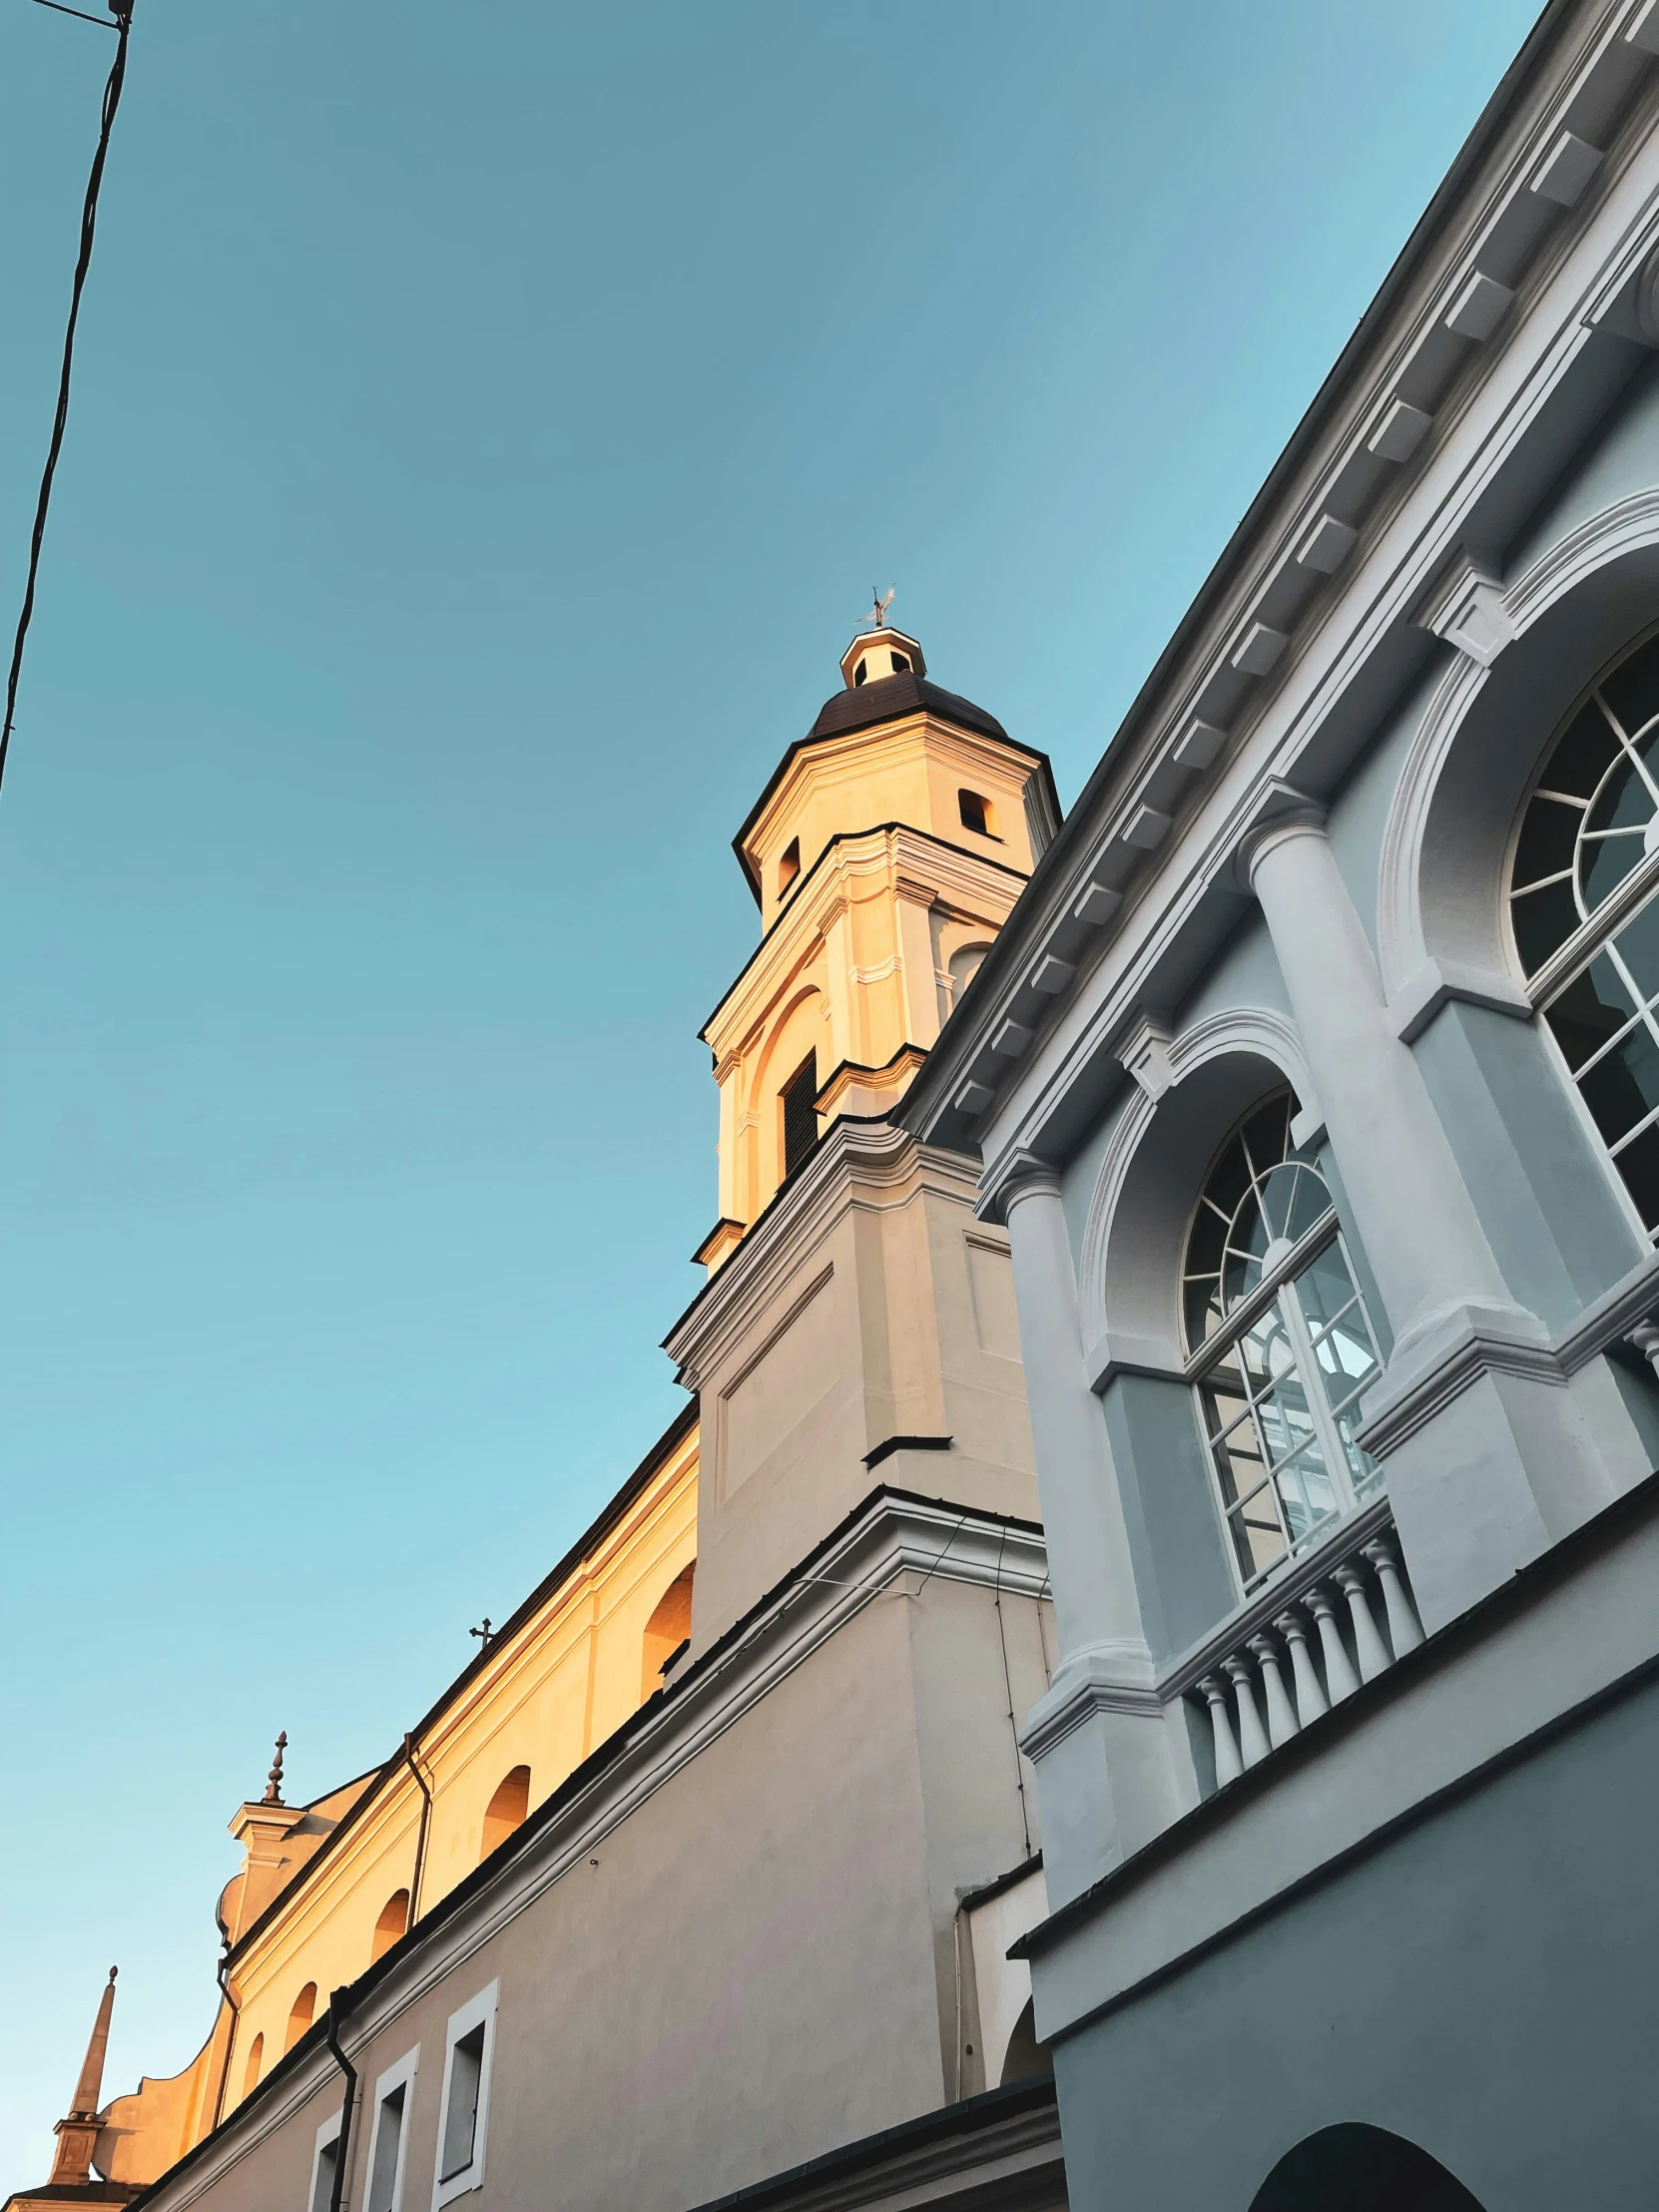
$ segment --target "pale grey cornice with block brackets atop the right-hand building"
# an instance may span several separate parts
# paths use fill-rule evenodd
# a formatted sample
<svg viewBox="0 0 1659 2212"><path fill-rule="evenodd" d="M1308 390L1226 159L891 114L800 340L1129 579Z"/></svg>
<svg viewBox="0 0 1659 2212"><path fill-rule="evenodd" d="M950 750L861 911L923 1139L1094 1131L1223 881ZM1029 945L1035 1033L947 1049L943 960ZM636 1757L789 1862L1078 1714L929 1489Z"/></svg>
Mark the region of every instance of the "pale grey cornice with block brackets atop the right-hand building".
<svg viewBox="0 0 1659 2212"><path fill-rule="evenodd" d="M1626 38L1630 13L1628 4L1582 9L1566 31L1557 22L1537 33L1526 93L1506 95L1509 113L1486 133L1480 170L1469 161L1453 170L1420 226L1429 243L1420 248L1413 239L1391 272L1310 411L1310 420L1318 418L1316 429L1292 440L1110 743L1051 863L1033 878L1015 936L1004 933L1000 956L987 962L982 980L991 989L973 1006L973 1026L947 1035L947 1051L936 1053L916 1088L911 1113L922 1133L940 1130L960 1141L953 1121L978 1117L982 1141L987 1135L1004 1141L1004 1128L1009 1139L1018 1128L1022 1141L1042 1141L1055 1093L1042 1040L1020 1068L998 1066L989 1051L995 1026L1018 1018L1015 1000L1031 971L1051 956L1077 971L1057 1000L1060 1018L1046 1024L1051 1035L1064 1033L1068 1057L1075 1057L1066 998L1093 989L1106 951L1128 933L1141 889L1166 872L1183 818L1190 825L1194 810L1208 812L1208 794L1237 781L1252 750L1272 748L1279 772L1294 774L1294 761L1383 639L1409 624L1422 604L1429 580L1442 573L1455 546L1462 515L1577 363L1595 334L1595 316L1635 283L1659 230L1652 131L1659 55ZM1562 131L1588 113L1584 102L1599 100L1608 113L1608 84L1617 91L1615 104L1621 102L1617 131L1597 126L1604 155L1568 208L1535 184ZM1517 223L1533 223L1524 250L1515 243ZM1509 241L1511 265L1502 272L1495 263L1484 268L1493 241ZM1475 272L1515 294L1513 310L1491 325L1491 338L1473 338L1455 323ZM1425 347L1440 347L1449 363L1444 389L1429 405L1431 434L1409 460L1394 460L1367 440L1387 418L1387 394L1429 358ZM1360 476L1369 469L1369 491L1358 511L1343 513L1338 493L1358 460L1365 462ZM1325 522L1338 522L1336 538ZM1323 546L1336 551L1336 562L1323 571L1327 580L1296 602L1287 622L1290 648L1256 675L1234 650L1254 622L1267 622L1252 608L1270 606L1281 580L1307 566L1303 555ZM1137 852L1128 834L1148 805L1175 818L1175 832L1155 854ZM1190 849L1181 854L1183 876L1194 860ZM1079 922L1091 885L1099 887L1099 898L1084 940ZM1117 967L1128 998L1144 989L1155 960L1128 945ZM1115 1000L1119 1020L1124 998Z"/></svg>

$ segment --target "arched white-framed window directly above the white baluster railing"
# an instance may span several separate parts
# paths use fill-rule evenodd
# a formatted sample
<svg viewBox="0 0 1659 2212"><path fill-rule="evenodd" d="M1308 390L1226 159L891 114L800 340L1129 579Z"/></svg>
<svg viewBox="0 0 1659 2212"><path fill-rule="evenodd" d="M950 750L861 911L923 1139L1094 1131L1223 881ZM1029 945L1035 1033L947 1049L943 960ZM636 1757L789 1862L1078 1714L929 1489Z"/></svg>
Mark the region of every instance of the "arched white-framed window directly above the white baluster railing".
<svg viewBox="0 0 1659 2212"><path fill-rule="evenodd" d="M1221 1513L1248 1593L1378 1480L1354 1442L1376 1338L1325 1179L1281 1091L1234 1128L1186 1243L1181 1316Z"/></svg>

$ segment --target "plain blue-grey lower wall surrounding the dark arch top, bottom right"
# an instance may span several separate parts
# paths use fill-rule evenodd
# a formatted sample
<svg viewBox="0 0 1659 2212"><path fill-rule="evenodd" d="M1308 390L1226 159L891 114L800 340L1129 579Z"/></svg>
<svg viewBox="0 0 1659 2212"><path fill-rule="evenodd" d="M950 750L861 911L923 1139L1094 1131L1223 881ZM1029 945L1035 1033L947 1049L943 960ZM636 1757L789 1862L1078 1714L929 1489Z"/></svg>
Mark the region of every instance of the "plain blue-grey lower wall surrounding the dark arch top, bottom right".
<svg viewBox="0 0 1659 2212"><path fill-rule="evenodd" d="M1659 1688L1055 2051L1077 2212L1248 2212L1336 2121L1486 2212L1650 2212Z"/></svg>

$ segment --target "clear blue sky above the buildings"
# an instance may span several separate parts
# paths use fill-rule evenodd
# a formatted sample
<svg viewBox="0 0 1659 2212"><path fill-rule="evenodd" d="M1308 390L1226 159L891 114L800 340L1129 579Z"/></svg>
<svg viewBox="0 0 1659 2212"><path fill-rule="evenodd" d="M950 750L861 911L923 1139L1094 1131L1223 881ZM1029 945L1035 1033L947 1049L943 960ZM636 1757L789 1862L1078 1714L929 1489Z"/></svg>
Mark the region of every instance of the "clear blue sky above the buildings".
<svg viewBox="0 0 1659 2212"><path fill-rule="evenodd" d="M86 0L102 7L102 0ZM1528 0L137 0L0 794L0 2192L672 1418L869 586L1071 801ZM9 641L111 38L0 0Z"/></svg>

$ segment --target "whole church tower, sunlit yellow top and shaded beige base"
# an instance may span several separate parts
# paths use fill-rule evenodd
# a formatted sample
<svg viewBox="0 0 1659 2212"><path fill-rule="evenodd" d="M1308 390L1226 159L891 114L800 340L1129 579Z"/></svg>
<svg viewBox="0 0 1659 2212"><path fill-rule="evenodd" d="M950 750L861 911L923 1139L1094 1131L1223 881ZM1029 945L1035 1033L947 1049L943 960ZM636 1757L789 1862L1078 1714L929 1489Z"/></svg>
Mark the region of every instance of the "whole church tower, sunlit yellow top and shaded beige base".
<svg viewBox="0 0 1659 2212"><path fill-rule="evenodd" d="M690 1652L876 1484L1035 1520L1002 1230L896 1108L1060 823L1044 754L883 622L734 838L761 942L710 1015L719 1221L668 1338L699 1394Z"/></svg>

